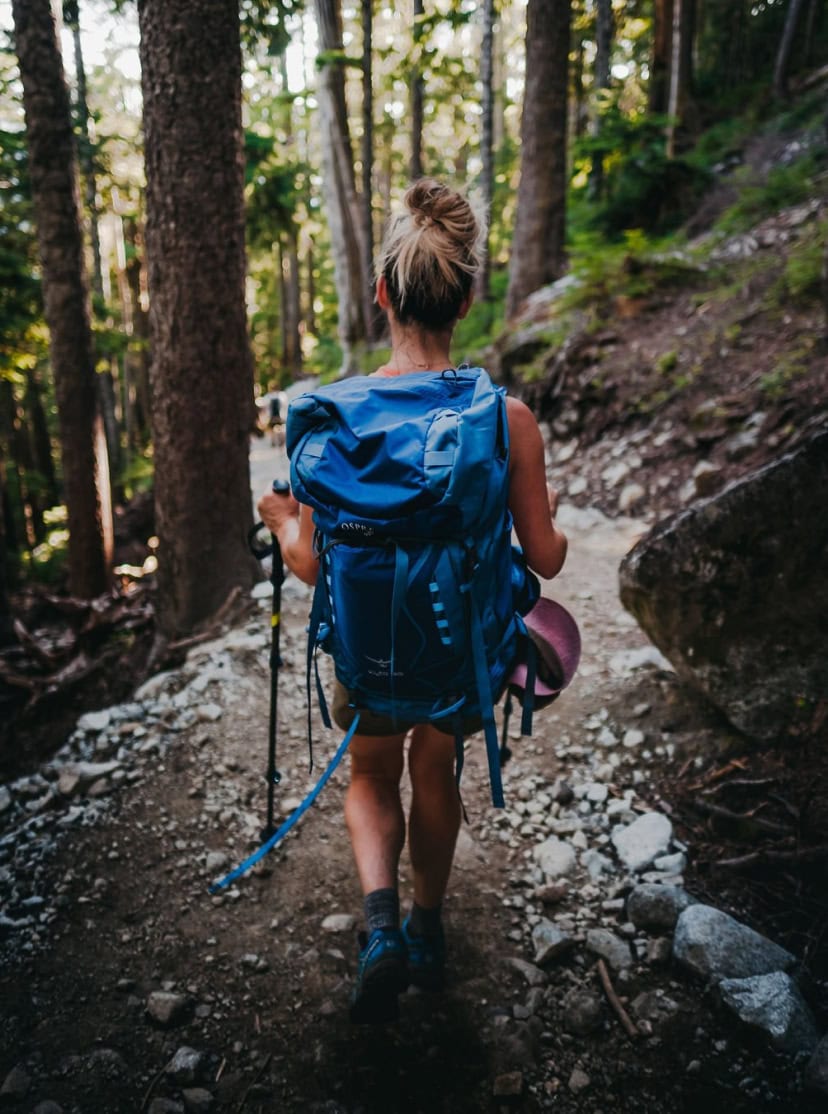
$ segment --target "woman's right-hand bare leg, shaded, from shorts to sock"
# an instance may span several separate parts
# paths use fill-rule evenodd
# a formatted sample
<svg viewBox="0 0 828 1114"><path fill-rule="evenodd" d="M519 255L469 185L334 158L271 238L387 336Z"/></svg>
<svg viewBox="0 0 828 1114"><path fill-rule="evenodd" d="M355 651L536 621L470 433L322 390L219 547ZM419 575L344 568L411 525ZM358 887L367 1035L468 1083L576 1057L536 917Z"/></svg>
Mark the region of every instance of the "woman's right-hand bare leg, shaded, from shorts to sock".
<svg viewBox="0 0 828 1114"><path fill-rule="evenodd" d="M415 903L420 909L439 909L461 818L454 739L434 726L419 724L411 736L408 766L412 791L408 846Z"/></svg>

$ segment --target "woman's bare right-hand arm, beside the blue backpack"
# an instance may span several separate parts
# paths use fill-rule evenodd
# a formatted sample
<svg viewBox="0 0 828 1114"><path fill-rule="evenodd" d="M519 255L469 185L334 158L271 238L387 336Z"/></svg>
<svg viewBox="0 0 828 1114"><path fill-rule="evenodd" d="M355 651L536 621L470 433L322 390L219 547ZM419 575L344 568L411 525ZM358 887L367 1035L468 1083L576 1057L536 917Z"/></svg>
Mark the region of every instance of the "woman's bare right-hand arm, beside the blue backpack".
<svg viewBox="0 0 828 1114"><path fill-rule="evenodd" d="M509 423L509 510L529 568L549 579L566 559L566 535L555 525L557 491L546 485L544 441L535 416L506 400Z"/></svg>

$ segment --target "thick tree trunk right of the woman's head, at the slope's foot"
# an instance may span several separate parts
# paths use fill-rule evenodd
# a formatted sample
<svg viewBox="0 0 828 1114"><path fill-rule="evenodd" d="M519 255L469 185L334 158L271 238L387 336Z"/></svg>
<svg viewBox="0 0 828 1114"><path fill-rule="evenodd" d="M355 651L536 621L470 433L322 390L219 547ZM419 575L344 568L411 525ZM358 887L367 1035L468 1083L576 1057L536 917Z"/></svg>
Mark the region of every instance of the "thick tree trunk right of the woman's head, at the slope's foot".
<svg viewBox="0 0 828 1114"><path fill-rule="evenodd" d="M509 262L506 316L565 263L566 91L569 0L529 0L526 91L520 121L520 184Z"/></svg>

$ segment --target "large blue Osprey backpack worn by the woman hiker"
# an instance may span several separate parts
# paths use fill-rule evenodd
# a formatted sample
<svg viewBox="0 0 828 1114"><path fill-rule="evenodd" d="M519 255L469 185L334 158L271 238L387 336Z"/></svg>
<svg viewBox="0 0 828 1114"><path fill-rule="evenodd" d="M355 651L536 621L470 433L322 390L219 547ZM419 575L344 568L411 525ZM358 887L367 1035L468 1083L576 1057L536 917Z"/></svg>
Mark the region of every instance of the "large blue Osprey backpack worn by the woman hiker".
<svg viewBox="0 0 828 1114"><path fill-rule="evenodd" d="M512 545L505 391L481 368L343 380L293 402L286 443L320 554L309 695L322 648L357 714L454 733L458 778L483 721L503 807L494 705L538 594Z"/></svg>

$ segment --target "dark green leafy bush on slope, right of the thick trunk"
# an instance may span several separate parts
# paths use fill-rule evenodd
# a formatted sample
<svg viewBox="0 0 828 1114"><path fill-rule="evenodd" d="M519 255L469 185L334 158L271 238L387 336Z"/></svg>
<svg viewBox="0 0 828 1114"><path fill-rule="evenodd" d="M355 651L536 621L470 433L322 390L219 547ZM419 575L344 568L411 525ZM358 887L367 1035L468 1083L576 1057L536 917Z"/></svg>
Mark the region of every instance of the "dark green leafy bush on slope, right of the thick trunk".
<svg viewBox="0 0 828 1114"><path fill-rule="evenodd" d="M685 158L668 158L659 116L622 111L607 99L598 134L579 138L573 150L574 224L617 237L627 228L663 234L690 213L709 182L709 174ZM590 172L603 160L603 190L588 196Z"/></svg>

